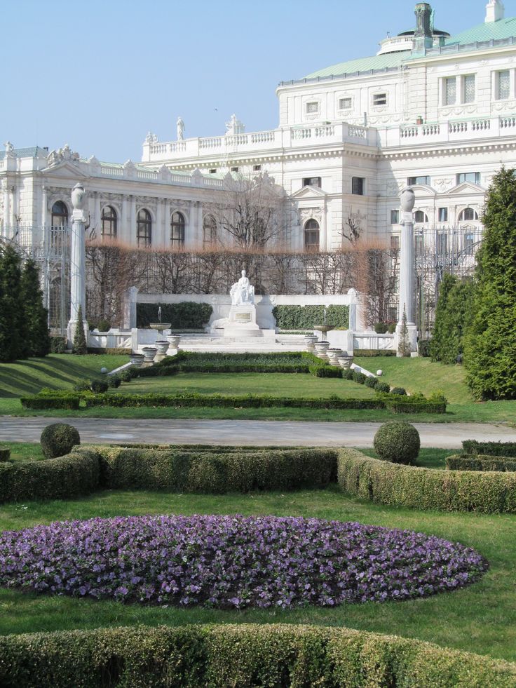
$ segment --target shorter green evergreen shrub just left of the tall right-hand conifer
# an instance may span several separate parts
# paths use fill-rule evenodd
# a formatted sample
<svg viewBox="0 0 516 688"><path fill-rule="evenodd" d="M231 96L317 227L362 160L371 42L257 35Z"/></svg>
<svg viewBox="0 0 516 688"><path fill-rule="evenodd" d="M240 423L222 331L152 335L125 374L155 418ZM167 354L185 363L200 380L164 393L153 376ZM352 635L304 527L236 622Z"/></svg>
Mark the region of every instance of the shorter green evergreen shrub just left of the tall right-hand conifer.
<svg viewBox="0 0 516 688"><path fill-rule="evenodd" d="M457 363L463 354L463 337L473 316L473 281L458 281L445 274L435 311L435 327L430 342L432 360Z"/></svg>

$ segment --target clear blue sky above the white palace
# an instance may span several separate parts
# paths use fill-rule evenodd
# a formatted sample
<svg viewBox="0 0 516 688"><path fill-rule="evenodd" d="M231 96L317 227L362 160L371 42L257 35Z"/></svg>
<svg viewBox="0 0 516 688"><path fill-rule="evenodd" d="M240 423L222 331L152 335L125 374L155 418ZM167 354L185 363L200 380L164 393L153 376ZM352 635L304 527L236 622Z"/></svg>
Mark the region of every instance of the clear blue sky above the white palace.
<svg viewBox="0 0 516 688"><path fill-rule="evenodd" d="M451 34L487 0L430 0ZM274 93L336 62L374 55L414 26L414 0L2 0L0 142L69 143L81 156L140 160L148 130L175 138L278 125ZM505 0L505 16L516 0Z"/></svg>

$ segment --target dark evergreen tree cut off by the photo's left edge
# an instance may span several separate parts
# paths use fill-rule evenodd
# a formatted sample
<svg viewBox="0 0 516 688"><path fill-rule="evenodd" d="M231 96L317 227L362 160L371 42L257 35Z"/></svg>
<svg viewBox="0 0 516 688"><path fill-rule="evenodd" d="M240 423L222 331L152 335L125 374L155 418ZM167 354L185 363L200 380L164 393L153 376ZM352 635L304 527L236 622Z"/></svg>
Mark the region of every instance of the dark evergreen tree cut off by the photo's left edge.
<svg viewBox="0 0 516 688"><path fill-rule="evenodd" d="M29 354L21 278L18 252L11 245L0 248L0 363Z"/></svg>

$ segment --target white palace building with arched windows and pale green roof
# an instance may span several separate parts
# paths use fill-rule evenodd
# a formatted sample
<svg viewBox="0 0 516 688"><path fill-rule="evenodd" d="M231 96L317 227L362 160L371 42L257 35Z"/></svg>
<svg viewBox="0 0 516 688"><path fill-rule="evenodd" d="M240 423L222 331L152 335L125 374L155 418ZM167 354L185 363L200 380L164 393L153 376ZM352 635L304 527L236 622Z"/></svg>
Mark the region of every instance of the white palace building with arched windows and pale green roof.
<svg viewBox="0 0 516 688"><path fill-rule="evenodd" d="M97 237L194 248L217 234L210 205L224 176L267 172L297 211L283 237L292 249L345 245L350 218L363 236L396 243L409 185L416 241L431 230L447 244L459 231L468 253L494 173L516 163L516 18L491 0L482 24L451 36L418 3L415 28L379 45L369 58L282 81L273 130L246 132L233 116L222 135L184 139L179 119L176 140L149 133L142 161L123 164L7 143L0 234L32 227L36 241L36 228L67 225L81 182Z"/></svg>

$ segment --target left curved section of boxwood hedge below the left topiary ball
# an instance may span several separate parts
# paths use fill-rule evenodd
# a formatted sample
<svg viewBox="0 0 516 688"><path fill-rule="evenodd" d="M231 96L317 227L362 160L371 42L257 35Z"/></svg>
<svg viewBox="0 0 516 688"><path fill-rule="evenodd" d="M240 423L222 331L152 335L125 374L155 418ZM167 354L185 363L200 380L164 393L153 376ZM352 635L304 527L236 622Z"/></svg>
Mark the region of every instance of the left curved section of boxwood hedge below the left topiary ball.
<svg viewBox="0 0 516 688"><path fill-rule="evenodd" d="M95 492L99 479L99 457L92 450L81 449L44 461L3 462L0 463L0 503L79 497Z"/></svg>

